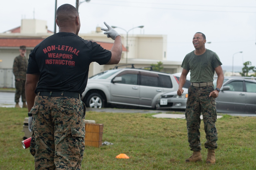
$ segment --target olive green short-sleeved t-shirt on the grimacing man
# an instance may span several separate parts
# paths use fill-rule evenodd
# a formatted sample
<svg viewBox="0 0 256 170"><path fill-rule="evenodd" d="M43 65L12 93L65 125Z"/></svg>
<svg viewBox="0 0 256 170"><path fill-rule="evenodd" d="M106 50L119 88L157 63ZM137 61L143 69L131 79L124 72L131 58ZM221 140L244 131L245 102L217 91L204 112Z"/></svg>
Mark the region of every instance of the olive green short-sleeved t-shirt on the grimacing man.
<svg viewBox="0 0 256 170"><path fill-rule="evenodd" d="M195 55L194 51L188 53L181 67L185 70L190 70L190 82L212 82L215 68L222 65L218 55L206 49L202 55Z"/></svg>

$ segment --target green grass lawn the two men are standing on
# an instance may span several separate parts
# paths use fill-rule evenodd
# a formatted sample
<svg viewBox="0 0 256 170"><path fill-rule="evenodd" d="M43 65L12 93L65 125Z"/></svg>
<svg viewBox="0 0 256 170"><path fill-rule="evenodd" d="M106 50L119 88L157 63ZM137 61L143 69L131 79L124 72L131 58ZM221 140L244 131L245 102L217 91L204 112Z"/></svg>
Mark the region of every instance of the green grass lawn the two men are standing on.
<svg viewBox="0 0 256 170"><path fill-rule="evenodd" d="M138 110L139 112L139 110ZM34 169L34 158L21 141L26 109L0 108L0 169ZM191 154L187 141L186 120L154 118L153 114L98 113L89 111L87 120L102 123L103 142L114 143L100 148L86 146L81 169L256 169L256 117L224 115L216 122L218 149L216 164L203 161L185 163ZM201 143L205 132L201 122ZM125 153L130 159L117 159Z"/></svg>

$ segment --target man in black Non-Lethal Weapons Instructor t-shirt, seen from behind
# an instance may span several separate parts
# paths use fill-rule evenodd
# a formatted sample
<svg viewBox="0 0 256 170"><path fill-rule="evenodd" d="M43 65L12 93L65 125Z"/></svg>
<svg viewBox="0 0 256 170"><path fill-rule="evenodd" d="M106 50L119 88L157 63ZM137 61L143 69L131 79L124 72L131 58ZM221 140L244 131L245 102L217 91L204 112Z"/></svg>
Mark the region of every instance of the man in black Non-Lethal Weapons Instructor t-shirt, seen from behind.
<svg viewBox="0 0 256 170"><path fill-rule="evenodd" d="M111 51L78 36L80 18L70 4L57 9L56 33L29 55L26 77L30 152L35 169L80 169L84 152L85 110L81 94L91 62L118 64L121 36L104 22L114 40Z"/></svg>

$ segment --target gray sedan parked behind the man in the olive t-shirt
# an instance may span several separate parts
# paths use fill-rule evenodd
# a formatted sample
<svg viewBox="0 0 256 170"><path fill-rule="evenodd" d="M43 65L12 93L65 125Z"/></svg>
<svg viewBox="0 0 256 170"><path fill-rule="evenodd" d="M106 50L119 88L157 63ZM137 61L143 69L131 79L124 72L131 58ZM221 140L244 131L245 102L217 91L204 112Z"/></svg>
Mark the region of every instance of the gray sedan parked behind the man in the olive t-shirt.
<svg viewBox="0 0 256 170"><path fill-rule="evenodd" d="M216 87L217 79L214 80ZM159 109L186 109L187 89L184 88L183 97L170 92L158 98ZM161 101L162 100L162 101ZM227 77L216 98L218 113L256 113L256 81L242 78Z"/></svg>

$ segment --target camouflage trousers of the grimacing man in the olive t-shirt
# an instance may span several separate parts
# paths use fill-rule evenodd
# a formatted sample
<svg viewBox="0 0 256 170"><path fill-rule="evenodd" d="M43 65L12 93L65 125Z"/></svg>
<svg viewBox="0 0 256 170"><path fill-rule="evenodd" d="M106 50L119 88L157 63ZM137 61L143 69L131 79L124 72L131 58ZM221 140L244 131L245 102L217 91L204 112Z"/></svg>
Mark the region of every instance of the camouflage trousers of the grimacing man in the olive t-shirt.
<svg viewBox="0 0 256 170"><path fill-rule="evenodd" d="M206 134L205 148L217 148L217 129L215 122L217 121L215 98L209 97L214 86L188 88L188 99L186 107L186 120L189 147L192 151L201 150L200 143L200 115L202 113L204 121L204 130Z"/></svg>

